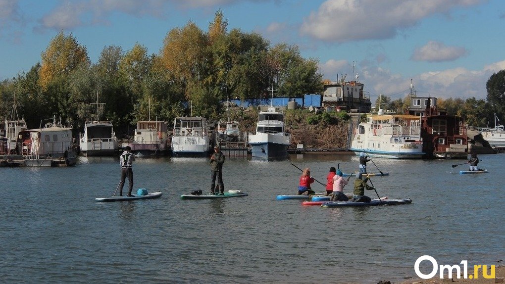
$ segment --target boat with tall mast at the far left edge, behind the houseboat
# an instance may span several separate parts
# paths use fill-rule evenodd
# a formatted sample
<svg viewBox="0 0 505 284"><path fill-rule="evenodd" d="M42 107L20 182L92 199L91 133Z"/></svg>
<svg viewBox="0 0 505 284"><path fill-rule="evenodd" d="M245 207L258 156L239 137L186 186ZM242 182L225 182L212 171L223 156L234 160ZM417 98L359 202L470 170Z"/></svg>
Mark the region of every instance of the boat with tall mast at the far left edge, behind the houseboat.
<svg viewBox="0 0 505 284"><path fill-rule="evenodd" d="M5 120L4 129L0 130L0 154L9 155L16 152L16 141L21 131L27 130L25 118L19 119L16 100L12 105L11 119Z"/></svg>

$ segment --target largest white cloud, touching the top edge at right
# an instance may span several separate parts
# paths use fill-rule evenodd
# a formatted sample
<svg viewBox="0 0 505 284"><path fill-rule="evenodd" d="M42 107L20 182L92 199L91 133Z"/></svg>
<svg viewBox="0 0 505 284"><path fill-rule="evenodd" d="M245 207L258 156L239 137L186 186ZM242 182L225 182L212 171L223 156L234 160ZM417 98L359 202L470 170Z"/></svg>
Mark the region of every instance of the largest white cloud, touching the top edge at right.
<svg viewBox="0 0 505 284"><path fill-rule="evenodd" d="M424 18L482 0L327 0L300 27L323 41L347 42L394 37Z"/></svg>

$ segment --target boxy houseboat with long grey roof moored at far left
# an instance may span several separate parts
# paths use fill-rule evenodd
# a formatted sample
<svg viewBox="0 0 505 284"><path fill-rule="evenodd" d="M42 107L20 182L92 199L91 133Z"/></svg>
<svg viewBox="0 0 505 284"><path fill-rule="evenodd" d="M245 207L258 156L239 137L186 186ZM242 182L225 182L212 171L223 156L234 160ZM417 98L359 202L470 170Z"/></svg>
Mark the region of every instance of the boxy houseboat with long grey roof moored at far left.
<svg viewBox="0 0 505 284"><path fill-rule="evenodd" d="M73 166L77 162L72 143L72 127L53 123L44 128L20 131L16 154L21 155L26 166Z"/></svg>

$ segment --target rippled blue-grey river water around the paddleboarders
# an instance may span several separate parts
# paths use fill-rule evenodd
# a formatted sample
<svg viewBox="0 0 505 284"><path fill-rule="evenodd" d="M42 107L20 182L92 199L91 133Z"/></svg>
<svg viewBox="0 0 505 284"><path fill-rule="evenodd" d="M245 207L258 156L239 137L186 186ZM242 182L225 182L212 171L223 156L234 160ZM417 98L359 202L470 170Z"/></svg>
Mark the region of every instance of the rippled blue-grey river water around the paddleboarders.
<svg viewBox="0 0 505 284"><path fill-rule="evenodd" d="M295 194L310 167L355 171L351 155L292 155L287 161L227 158L226 190L249 196L181 200L209 191L205 158L137 159L135 189L153 200L95 202L119 182L117 158L79 158L75 167L2 168L0 279L7 283L376 283L415 276L414 263L499 264L505 257L503 154L480 155L490 174L459 175L464 160L373 161L381 196L412 204L366 208L301 206ZM377 173L372 162L369 172ZM351 182L354 178L351 178ZM315 183L317 192L324 187ZM127 185L125 185L125 192ZM351 192L349 184L344 192ZM375 192L368 191L370 197ZM423 270L424 271L424 270ZM426 274L431 270L426 270Z"/></svg>

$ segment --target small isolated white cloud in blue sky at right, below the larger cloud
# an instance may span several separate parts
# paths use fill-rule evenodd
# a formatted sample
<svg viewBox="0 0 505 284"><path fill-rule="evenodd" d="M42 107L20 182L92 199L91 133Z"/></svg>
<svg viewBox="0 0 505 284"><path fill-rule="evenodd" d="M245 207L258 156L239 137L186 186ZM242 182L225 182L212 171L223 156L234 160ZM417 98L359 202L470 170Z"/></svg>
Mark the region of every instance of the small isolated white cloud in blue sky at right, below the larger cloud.
<svg viewBox="0 0 505 284"><path fill-rule="evenodd" d="M467 50L463 47L446 46L439 41L429 41L426 45L414 50L412 59L428 62L453 61L466 54Z"/></svg>

